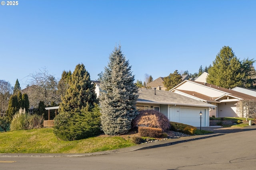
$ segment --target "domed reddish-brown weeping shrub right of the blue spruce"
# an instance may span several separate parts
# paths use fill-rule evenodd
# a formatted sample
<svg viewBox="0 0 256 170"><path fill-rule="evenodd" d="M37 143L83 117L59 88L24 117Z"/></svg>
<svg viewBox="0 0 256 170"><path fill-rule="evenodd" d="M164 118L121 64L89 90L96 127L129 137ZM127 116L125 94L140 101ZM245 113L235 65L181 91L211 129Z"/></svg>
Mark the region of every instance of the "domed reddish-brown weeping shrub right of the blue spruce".
<svg viewBox="0 0 256 170"><path fill-rule="evenodd" d="M132 128L152 127L161 128L162 131L169 130L168 118L162 113L154 110L139 111L139 115L132 121Z"/></svg>

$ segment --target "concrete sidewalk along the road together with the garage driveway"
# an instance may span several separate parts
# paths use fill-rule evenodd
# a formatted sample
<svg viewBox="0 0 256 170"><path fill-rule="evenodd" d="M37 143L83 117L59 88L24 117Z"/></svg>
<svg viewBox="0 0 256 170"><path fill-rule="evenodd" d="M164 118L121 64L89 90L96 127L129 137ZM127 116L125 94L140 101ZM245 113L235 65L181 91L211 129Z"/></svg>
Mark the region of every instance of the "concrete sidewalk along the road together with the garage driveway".
<svg viewBox="0 0 256 170"><path fill-rule="evenodd" d="M214 133L204 134L204 135L195 135L195 136L187 136L181 138L172 138L166 140L158 140L154 142L149 142L145 144L139 144L136 146L130 146L127 148L115 149L115 150L106 150L102 152L93 152L93 153L83 153L83 154L0 154L0 157L78 157L78 156L96 156L96 155L104 155L104 154L115 154L122 152L132 152L135 150L142 149L150 149L150 148L158 148L162 146L170 146L173 144L178 144L182 142L189 142L192 140L200 140L204 138L211 138L215 136L225 135L226 133L232 132L242 132L246 130L256 130L256 126L249 126L244 128L222 128L222 127L202 127L202 130L213 131Z"/></svg>

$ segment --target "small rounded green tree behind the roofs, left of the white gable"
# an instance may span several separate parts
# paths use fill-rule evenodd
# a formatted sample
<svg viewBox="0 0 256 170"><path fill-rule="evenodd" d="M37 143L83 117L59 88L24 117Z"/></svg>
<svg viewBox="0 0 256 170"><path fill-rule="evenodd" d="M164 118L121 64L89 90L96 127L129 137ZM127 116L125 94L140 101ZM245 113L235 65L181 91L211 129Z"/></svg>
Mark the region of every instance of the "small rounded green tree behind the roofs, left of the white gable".
<svg viewBox="0 0 256 170"><path fill-rule="evenodd" d="M173 73L170 73L167 77L164 77L164 86L166 90L170 90L176 85L182 82L182 76L178 73L178 70L175 70Z"/></svg>

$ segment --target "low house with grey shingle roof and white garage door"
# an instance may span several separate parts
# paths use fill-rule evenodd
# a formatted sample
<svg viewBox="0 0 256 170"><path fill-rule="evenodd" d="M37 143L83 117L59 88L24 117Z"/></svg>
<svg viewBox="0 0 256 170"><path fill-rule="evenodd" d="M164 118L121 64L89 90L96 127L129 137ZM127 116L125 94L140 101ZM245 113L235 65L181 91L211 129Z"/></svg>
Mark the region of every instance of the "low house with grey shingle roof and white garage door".
<svg viewBox="0 0 256 170"><path fill-rule="evenodd" d="M200 112L202 112L202 127L209 126L209 110L214 105L205 103L171 91L141 89L138 91L137 109L156 110L163 113L170 121L200 127Z"/></svg>

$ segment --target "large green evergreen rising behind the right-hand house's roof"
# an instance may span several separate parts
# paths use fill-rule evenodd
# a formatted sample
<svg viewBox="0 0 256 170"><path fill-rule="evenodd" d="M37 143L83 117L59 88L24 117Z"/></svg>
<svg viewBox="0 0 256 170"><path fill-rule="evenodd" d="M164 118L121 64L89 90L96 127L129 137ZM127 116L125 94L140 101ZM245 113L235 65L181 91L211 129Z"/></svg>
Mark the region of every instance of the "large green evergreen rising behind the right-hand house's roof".
<svg viewBox="0 0 256 170"><path fill-rule="evenodd" d="M208 69L209 75L206 81L224 88L241 87L245 76L241 69L242 65L232 48L224 46L213 61L213 66Z"/></svg>

